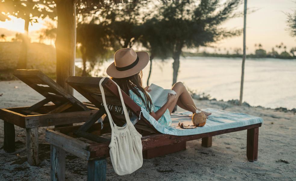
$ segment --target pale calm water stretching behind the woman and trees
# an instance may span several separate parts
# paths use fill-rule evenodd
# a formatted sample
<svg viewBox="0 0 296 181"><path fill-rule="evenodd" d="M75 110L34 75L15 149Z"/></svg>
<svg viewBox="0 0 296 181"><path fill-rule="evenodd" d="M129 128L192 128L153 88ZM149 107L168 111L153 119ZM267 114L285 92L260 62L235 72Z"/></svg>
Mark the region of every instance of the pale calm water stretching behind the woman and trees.
<svg viewBox="0 0 296 181"><path fill-rule="evenodd" d="M95 67L93 76L104 76L113 60ZM150 83L170 89L173 81L172 59L154 60ZM81 59L76 65L82 67ZM143 70L146 85L149 66ZM241 58L186 57L180 59L177 81L197 93L210 94L224 101L239 99ZM243 101L266 108L296 108L296 60L247 59Z"/></svg>

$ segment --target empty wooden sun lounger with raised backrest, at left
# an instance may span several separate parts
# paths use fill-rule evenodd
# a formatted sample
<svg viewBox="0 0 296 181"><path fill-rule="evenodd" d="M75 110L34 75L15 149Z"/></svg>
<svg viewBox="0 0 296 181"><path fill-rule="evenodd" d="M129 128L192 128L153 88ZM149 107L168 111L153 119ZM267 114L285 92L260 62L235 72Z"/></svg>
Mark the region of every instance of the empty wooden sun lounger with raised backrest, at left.
<svg viewBox="0 0 296 181"><path fill-rule="evenodd" d="M26 129L28 163L36 165L38 157L38 127L81 123L98 111L94 105L82 103L39 70L15 70L14 76L45 97L30 107L4 108L4 145L7 152L15 151L14 125ZM53 104L48 104L52 102Z"/></svg>

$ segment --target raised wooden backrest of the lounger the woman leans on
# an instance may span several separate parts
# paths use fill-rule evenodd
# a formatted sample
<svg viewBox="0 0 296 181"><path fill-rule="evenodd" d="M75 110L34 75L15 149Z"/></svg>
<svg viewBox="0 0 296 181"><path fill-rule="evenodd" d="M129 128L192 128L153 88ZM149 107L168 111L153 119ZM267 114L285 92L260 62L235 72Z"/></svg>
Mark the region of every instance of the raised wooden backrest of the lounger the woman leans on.
<svg viewBox="0 0 296 181"><path fill-rule="evenodd" d="M80 76L69 76L66 82L76 89L81 95L91 101L96 107L102 108L102 95L99 88L99 82L102 77L80 77ZM109 78L105 79L102 83L104 87L105 98L107 106L116 119L113 120L118 123L125 123L124 116L118 112L121 107L121 101L119 92L116 84ZM137 105L125 92L121 90L123 101L128 109L137 117L140 116L141 108ZM157 132L157 130L146 120L142 115L140 121L135 125L141 130L150 132Z"/></svg>

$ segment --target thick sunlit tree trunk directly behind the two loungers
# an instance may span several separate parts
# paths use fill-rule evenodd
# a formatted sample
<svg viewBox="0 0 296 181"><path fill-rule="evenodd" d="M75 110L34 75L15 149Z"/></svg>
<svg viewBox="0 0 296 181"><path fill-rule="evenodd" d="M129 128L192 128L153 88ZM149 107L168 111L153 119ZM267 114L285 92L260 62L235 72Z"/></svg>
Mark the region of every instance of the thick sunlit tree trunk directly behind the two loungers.
<svg viewBox="0 0 296 181"><path fill-rule="evenodd" d="M76 7L73 0L56 1L58 28L55 48L57 54L57 83L70 94L73 89L65 83L75 71L76 53Z"/></svg>

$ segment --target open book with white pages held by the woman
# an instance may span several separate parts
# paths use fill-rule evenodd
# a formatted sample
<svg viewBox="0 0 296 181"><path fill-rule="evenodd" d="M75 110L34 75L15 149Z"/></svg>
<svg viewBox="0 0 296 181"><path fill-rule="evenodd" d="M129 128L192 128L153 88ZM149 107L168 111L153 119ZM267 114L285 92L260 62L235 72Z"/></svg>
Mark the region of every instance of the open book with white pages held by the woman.
<svg viewBox="0 0 296 181"><path fill-rule="evenodd" d="M151 84L149 86L149 89L151 90L149 94L151 95L152 103L155 106L162 107L165 103L167 103L167 95L170 94L176 94L175 91L170 89L164 89L160 86L157 86L155 84Z"/></svg>

